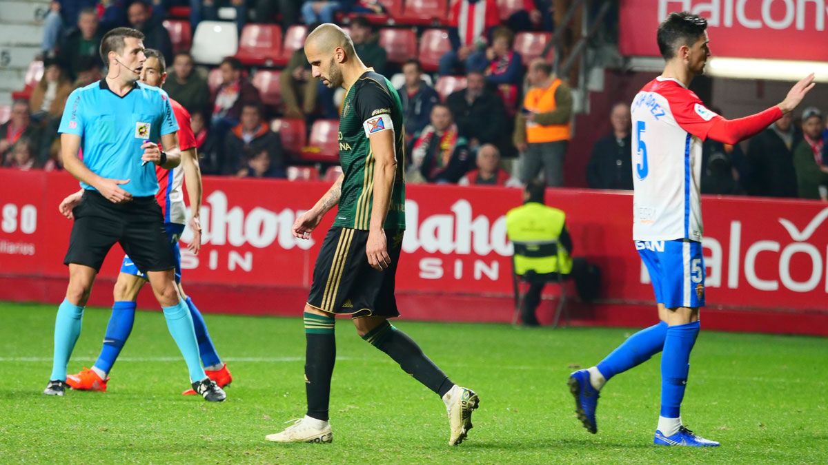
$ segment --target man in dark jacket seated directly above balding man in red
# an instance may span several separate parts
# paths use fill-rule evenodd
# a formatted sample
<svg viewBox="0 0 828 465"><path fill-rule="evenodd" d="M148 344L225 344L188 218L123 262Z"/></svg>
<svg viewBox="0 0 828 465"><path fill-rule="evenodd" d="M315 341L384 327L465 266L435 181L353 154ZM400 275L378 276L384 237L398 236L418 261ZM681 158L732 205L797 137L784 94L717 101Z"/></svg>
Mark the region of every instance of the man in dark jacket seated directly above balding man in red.
<svg viewBox="0 0 828 465"><path fill-rule="evenodd" d="M466 88L451 93L445 103L457 122L460 136L469 141L472 151L477 151L483 144L499 146L503 143L507 131L503 101L486 89L482 73L467 74Z"/></svg>

